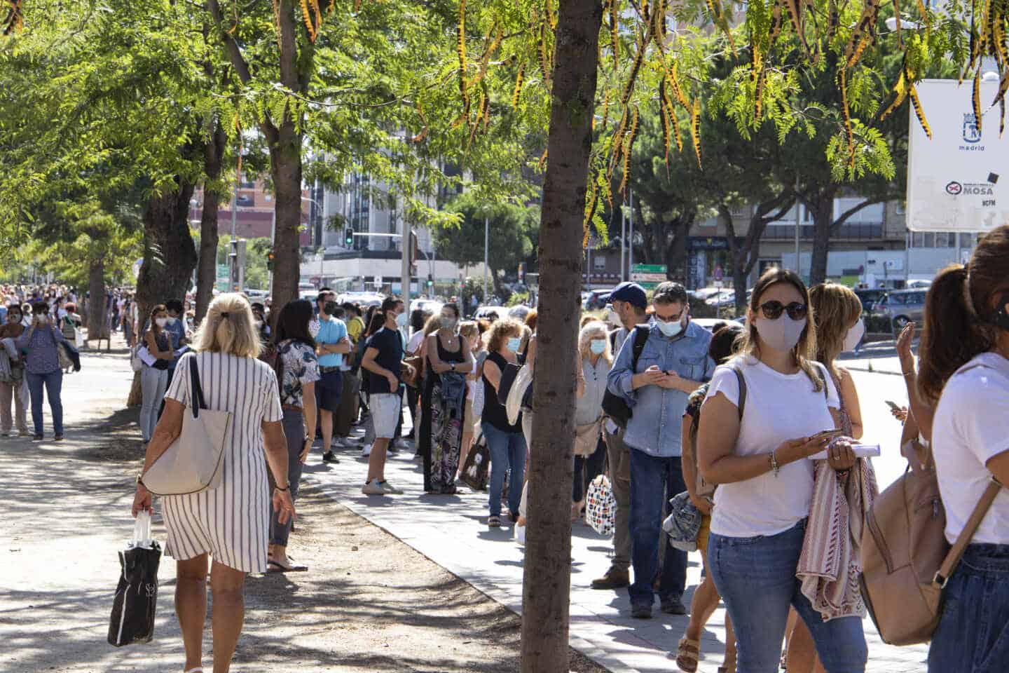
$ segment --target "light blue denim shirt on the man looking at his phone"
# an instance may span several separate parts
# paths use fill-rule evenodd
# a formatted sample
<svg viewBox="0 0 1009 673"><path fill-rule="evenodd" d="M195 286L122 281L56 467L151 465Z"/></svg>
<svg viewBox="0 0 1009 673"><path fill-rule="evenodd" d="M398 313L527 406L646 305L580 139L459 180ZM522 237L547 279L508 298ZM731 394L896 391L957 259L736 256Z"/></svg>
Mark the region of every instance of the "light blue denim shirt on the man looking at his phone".
<svg viewBox="0 0 1009 673"><path fill-rule="evenodd" d="M711 333L692 322L673 338L664 336L654 321L649 323L648 330L638 368L631 370L634 338L629 335L609 371L607 386L610 392L627 400L634 412L624 435L628 446L662 458L679 456L683 452L680 428L689 395L658 385L645 385L635 390L631 387L631 377L654 364L663 371L675 371L683 378L709 380L714 373L714 360L707 356Z"/></svg>

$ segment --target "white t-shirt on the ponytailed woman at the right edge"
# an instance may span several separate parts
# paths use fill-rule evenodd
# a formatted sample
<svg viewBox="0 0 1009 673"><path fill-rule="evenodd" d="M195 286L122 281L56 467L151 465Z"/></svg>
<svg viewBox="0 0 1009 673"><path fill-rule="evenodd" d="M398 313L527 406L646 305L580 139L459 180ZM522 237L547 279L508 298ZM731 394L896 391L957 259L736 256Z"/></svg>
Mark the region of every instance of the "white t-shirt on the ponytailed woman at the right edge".
<svg viewBox="0 0 1009 673"><path fill-rule="evenodd" d="M949 377L932 419L932 455L950 544L988 487L985 463L1009 451L1009 360L982 353ZM1009 489L1003 488L973 542L1009 545Z"/></svg>

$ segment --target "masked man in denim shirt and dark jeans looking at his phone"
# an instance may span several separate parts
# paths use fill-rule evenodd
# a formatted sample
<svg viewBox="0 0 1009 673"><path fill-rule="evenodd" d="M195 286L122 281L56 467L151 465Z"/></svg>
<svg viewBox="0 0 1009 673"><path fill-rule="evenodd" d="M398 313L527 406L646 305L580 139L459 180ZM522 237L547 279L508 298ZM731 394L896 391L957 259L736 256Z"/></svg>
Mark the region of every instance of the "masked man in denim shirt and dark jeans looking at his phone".
<svg viewBox="0 0 1009 673"><path fill-rule="evenodd" d="M652 298L655 311L648 340L632 371L634 337L628 335L609 372L608 387L628 401L634 414L624 442L631 449L631 613L652 616L653 583L659 573L659 535L669 498L686 490L680 465L680 430L687 398L714 373L707 356L711 334L689 320L686 290L663 283ZM665 550L662 610L685 614L686 552Z"/></svg>

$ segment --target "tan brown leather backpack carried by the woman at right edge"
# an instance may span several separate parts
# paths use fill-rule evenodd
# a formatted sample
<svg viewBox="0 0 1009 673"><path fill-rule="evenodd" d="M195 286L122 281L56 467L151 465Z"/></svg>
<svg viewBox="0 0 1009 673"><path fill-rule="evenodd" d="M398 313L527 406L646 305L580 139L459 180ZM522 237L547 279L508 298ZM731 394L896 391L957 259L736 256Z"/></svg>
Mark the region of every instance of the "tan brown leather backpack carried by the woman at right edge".
<svg viewBox="0 0 1009 673"><path fill-rule="evenodd" d="M921 464L914 448L905 445L908 470L876 496L862 535L862 596L889 645L931 640L942 614L942 588L1002 488L992 477L950 548L931 451Z"/></svg>

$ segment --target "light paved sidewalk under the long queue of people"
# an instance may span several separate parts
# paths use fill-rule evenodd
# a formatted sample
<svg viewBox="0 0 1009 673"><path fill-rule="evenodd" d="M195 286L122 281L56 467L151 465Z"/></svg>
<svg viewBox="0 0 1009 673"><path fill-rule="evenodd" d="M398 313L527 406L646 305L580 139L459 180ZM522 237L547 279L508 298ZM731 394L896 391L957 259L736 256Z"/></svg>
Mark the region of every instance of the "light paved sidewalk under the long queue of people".
<svg viewBox="0 0 1009 673"><path fill-rule="evenodd" d="M366 496L360 492L367 470L365 458L343 451L340 464L323 464L318 449L309 459L306 476L352 512L388 531L435 563L469 582L516 612L522 610L523 549L511 529L486 527L486 493L461 488L457 495L428 495L423 490L421 461L412 450L390 454L386 478L406 494ZM592 578L609 567L609 540L575 524L571 564L571 645L614 673L677 670L670 652L683 635L686 616L662 614L655 605L651 621L632 620L626 590L595 591ZM700 555L690 555L687 572L689 605L692 588L700 582ZM714 673L721 663L724 610L719 608L703 633L699 670ZM922 673L925 647L884 645L866 620L868 671Z"/></svg>

